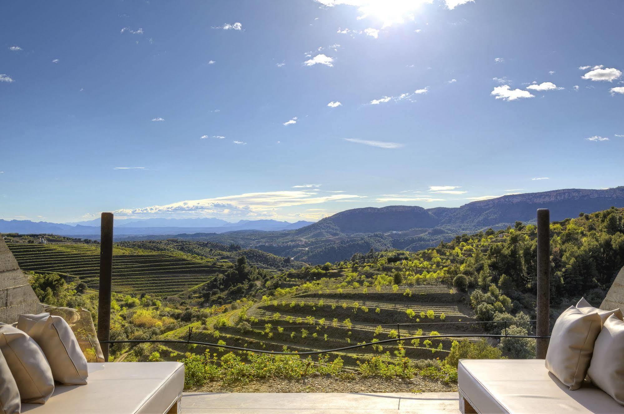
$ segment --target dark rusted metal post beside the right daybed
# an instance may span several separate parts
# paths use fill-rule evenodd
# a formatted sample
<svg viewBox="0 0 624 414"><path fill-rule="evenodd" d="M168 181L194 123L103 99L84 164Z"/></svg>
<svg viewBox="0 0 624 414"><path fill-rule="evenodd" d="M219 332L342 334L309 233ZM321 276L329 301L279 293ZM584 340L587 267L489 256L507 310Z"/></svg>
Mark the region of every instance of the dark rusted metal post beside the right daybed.
<svg viewBox="0 0 624 414"><path fill-rule="evenodd" d="M537 336L550 333L550 211L537 210ZM535 340L535 358L545 359L548 339Z"/></svg>

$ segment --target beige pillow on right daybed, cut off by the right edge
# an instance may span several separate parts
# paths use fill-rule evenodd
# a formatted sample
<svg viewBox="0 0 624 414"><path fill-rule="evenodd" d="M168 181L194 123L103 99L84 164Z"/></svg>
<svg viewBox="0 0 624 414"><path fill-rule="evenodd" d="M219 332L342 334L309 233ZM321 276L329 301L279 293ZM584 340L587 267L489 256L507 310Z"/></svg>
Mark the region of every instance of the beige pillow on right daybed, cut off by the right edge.
<svg viewBox="0 0 624 414"><path fill-rule="evenodd" d="M603 324L587 373L592 383L624 405L624 322L616 315Z"/></svg>

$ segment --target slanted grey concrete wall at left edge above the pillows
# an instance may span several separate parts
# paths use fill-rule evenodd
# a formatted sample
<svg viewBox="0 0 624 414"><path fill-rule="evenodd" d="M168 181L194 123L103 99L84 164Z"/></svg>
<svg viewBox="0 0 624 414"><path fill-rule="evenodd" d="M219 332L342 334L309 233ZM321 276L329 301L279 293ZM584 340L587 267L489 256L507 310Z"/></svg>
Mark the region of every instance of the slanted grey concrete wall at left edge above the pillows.
<svg viewBox="0 0 624 414"><path fill-rule="evenodd" d="M0 322L17 322L21 314L38 314L43 306L0 234Z"/></svg>

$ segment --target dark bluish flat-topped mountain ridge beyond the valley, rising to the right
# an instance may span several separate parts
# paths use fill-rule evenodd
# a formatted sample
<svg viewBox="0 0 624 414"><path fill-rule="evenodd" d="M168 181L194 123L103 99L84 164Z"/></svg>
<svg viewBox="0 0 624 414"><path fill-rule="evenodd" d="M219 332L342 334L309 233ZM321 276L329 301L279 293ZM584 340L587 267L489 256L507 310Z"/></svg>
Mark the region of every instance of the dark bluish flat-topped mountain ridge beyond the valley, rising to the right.
<svg viewBox="0 0 624 414"><path fill-rule="evenodd" d="M550 208L560 220L624 206L624 187L608 190L554 190L473 201L457 208L388 206L341 211L295 231L238 231L185 234L181 238L212 240L253 247L313 264L348 259L369 249L418 251L449 241L457 234L502 229L515 221L532 223L538 208Z"/></svg>

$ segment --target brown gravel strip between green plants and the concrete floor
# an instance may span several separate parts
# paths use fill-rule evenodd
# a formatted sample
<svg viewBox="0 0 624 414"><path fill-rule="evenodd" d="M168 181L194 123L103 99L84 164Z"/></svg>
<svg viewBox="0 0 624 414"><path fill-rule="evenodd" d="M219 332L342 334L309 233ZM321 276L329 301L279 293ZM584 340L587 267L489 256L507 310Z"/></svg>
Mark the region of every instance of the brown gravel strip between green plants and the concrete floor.
<svg viewBox="0 0 624 414"><path fill-rule="evenodd" d="M209 382L195 392L456 392L457 384L445 384L423 377L404 378L307 377L296 380L271 378L223 385Z"/></svg>

